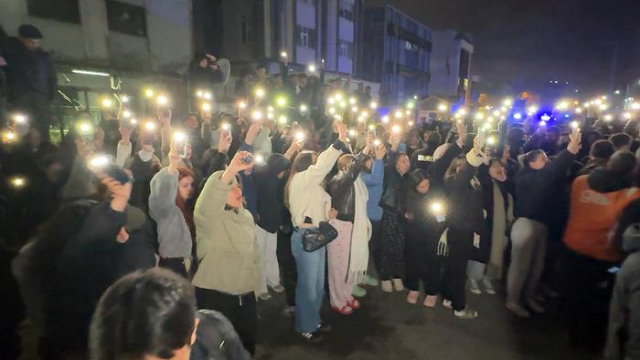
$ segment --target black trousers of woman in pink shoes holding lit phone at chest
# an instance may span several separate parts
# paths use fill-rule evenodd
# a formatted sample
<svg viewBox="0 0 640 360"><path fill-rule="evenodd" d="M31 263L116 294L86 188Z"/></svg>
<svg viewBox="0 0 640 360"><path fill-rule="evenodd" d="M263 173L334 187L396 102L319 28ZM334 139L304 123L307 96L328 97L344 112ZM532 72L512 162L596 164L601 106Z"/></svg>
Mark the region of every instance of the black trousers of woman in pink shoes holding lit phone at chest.
<svg viewBox="0 0 640 360"><path fill-rule="evenodd" d="M417 224L407 225L405 247L406 279L404 285L409 290L420 290L420 281L427 295L438 295L440 290L440 256L438 239L429 236Z"/></svg>

